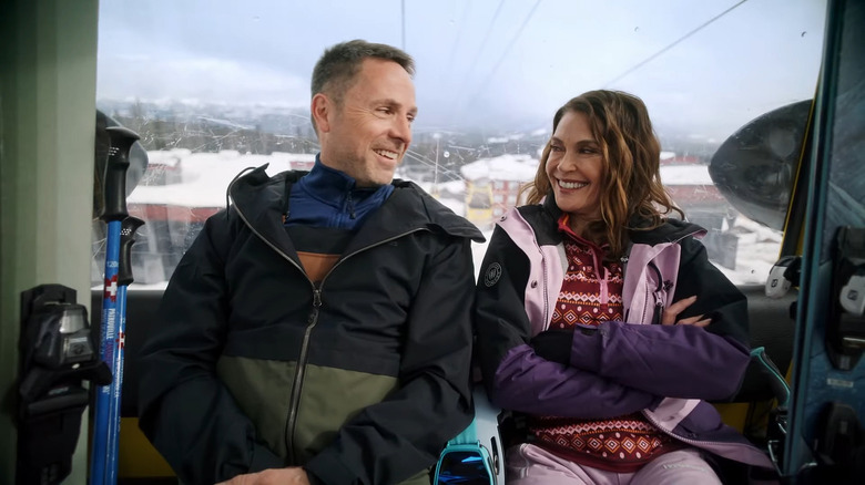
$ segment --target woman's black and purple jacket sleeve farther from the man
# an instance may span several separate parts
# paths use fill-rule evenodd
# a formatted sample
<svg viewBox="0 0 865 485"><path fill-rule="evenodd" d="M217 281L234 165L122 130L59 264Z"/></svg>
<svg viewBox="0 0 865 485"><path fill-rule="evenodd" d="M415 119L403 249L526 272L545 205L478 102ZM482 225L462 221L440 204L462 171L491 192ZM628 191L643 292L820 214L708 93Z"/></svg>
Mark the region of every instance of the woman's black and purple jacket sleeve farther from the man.
<svg viewBox="0 0 865 485"><path fill-rule="evenodd" d="M669 398L722 400L739 390L750 361L747 300L709 262L702 244L686 238L682 245L674 300L698 298L679 318L703 314L712 322L606 322L594 334L573 334L571 365Z"/></svg>

